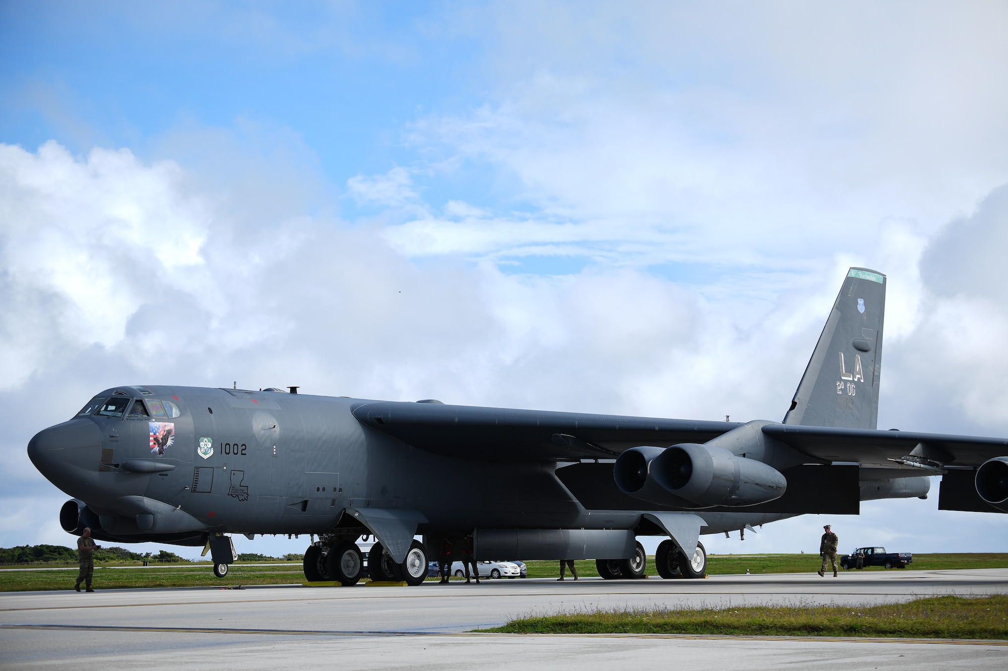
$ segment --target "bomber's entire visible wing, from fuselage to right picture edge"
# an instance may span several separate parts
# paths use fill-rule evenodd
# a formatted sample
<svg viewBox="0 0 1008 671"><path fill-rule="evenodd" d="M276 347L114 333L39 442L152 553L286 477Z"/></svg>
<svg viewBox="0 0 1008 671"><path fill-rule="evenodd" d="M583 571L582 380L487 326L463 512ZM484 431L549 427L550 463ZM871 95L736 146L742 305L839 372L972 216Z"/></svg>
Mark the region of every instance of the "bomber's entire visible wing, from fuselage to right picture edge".
<svg viewBox="0 0 1008 671"><path fill-rule="evenodd" d="M639 445L704 443L741 426L738 422L394 401L364 402L353 413L366 426L418 449L491 460L611 459ZM792 424L767 424L762 431L810 460L858 461L890 468L899 466L889 459L911 453L962 466L1008 454L1006 438Z"/></svg>

